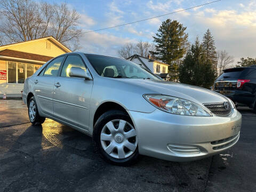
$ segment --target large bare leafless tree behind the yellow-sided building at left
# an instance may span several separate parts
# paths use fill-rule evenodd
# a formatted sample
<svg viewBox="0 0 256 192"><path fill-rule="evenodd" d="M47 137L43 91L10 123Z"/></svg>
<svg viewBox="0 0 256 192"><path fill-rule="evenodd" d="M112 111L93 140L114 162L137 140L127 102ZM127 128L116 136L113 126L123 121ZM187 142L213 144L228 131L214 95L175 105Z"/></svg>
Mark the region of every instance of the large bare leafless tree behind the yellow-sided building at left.
<svg viewBox="0 0 256 192"><path fill-rule="evenodd" d="M79 14L66 3L38 3L33 0L0 0L2 43L17 43L52 35L59 42L77 49L82 30Z"/></svg>

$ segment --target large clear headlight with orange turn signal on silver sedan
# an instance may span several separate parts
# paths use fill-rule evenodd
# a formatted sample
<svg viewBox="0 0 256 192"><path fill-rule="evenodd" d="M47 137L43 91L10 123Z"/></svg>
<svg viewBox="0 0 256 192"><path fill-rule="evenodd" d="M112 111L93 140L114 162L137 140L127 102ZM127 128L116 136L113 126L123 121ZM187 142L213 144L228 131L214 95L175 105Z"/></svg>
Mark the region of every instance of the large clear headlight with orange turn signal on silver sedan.
<svg viewBox="0 0 256 192"><path fill-rule="evenodd" d="M189 116L211 116L203 107L192 101L168 95L145 94L143 97L152 105L171 114Z"/></svg>

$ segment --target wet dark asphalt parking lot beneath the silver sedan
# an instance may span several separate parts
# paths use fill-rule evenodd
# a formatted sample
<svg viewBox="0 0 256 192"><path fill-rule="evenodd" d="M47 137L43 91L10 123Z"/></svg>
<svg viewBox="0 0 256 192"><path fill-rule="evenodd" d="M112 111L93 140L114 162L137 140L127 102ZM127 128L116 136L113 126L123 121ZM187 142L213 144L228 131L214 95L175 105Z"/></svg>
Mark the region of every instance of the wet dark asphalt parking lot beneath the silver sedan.
<svg viewBox="0 0 256 192"><path fill-rule="evenodd" d="M249 108L238 108L238 143L219 155L185 163L141 156L119 167L68 126L51 119L31 125L22 100L0 106L0 191L255 191L256 114Z"/></svg>

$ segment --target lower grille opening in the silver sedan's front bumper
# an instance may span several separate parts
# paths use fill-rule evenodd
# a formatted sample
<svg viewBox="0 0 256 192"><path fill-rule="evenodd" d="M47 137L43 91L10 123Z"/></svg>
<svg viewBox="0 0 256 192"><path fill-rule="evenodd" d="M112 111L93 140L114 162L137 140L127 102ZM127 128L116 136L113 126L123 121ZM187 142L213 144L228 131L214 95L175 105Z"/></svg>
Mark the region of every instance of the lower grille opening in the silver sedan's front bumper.
<svg viewBox="0 0 256 192"><path fill-rule="evenodd" d="M221 139L221 140L217 140L217 141L212 141L211 145L213 146L213 150L221 150L221 149L225 149L227 147L230 147L232 145L234 145L240 136L240 132L237 133L236 135L226 138L226 139Z"/></svg>

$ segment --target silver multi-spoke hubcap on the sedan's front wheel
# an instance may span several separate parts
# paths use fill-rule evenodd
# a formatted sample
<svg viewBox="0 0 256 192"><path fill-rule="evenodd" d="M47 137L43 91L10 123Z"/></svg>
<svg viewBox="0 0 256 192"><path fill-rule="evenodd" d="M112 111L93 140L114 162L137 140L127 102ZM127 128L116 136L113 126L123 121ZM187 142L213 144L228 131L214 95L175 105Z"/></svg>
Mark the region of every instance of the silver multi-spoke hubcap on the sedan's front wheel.
<svg viewBox="0 0 256 192"><path fill-rule="evenodd" d="M118 159L131 156L138 145L134 127L122 119L108 122L101 130L100 141L106 153Z"/></svg>

